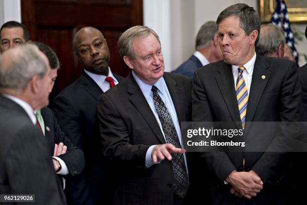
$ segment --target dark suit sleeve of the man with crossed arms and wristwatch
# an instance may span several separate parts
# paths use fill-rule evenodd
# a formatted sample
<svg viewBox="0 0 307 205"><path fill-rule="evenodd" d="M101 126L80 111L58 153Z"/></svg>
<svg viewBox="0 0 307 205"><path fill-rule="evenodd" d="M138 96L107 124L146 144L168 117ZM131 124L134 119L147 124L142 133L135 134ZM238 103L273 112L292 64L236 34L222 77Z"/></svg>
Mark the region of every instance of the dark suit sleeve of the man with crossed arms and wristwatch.
<svg viewBox="0 0 307 205"><path fill-rule="evenodd" d="M69 173L74 176L80 174L85 166L85 159L82 149L77 148L66 135L61 131L54 113L51 111L55 126L55 143L62 142L67 146L67 152L59 156L67 168Z"/></svg>

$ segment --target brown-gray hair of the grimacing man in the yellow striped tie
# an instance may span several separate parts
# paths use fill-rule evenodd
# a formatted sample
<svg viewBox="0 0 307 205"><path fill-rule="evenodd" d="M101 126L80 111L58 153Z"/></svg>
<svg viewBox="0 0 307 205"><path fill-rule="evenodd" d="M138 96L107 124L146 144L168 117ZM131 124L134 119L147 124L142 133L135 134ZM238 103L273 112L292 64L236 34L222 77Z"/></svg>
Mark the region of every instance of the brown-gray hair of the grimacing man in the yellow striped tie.
<svg viewBox="0 0 307 205"><path fill-rule="evenodd" d="M249 35L254 30L258 31L258 36L255 41L255 45L257 45L261 23L259 14L254 10L254 8L246 4L235 4L227 7L218 16L216 24L219 25L223 19L231 16L240 18L240 27L245 31L247 35Z"/></svg>

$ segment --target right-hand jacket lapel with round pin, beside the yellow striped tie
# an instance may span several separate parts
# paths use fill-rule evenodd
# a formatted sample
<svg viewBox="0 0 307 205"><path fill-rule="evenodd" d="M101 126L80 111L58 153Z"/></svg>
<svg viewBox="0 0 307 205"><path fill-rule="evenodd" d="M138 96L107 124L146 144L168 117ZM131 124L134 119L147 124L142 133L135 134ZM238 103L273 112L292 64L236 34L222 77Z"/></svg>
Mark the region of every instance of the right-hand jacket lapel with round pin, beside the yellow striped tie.
<svg viewBox="0 0 307 205"><path fill-rule="evenodd" d="M251 122L253 120L259 100L269 80L271 73L267 70L268 67L269 65L261 59L261 56L257 55L248 97L246 122Z"/></svg>

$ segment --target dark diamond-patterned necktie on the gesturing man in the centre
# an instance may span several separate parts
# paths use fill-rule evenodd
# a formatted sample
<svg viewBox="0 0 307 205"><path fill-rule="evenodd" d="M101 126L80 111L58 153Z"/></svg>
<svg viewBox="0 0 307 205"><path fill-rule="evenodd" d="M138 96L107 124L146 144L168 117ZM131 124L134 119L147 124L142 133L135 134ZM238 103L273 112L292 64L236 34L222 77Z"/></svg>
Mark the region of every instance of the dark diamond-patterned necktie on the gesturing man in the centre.
<svg viewBox="0 0 307 205"><path fill-rule="evenodd" d="M154 97L155 107L159 115L166 142L173 144L177 148L181 148L172 117L163 100L158 94L158 88L156 86L152 86L151 91ZM189 189L189 178L185 164L185 158L183 154L178 153L172 153L172 158L174 176L173 189L179 197L184 198Z"/></svg>

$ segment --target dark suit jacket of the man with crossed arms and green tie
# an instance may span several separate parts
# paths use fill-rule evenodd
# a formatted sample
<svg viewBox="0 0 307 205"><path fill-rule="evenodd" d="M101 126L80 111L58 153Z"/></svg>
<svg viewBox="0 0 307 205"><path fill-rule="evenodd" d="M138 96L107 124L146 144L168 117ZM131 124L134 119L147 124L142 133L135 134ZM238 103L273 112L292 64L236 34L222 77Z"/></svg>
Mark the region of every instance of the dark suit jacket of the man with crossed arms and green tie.
<svg viewBox="0 0 307 205"><path fill-rule="evenodd" d="M57 119L50 108L45 107L41 109L41 114L45 123L45 137L49 143L51 156L53 156L54 145L63 142L67 146L67 152L60 155L59 158L65 162L70 175L80 174L85 166L82 149L73 145L70 139L61 131ZM49 129L46 129L47 127Z"/></svg>

